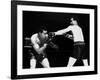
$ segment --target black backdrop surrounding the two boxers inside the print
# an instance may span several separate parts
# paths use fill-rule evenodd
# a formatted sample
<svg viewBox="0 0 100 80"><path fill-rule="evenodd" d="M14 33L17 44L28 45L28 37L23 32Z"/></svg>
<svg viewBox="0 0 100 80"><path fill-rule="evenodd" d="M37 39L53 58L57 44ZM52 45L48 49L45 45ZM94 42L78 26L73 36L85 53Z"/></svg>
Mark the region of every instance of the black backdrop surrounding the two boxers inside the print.
<svg viewBox="0 0 100 80"><path fill-rule="evenodd" d="M23 42L25 42L25 37L30 38L34 33L37 33L40 26L46 26L49 32L55 32L68 27L69 19L72 16L76 16L79 19L79 25L83 30L86 53L89 59L89 14L23 11ZM67 66L69 56L72 53L73 41L64 36L57 36L53 42L59 46L59 50L57 51L49 46L47 47L47 57L50 61L50 66ZM23 43L24 45L25 43ZM30 54L28 50L28 48L23 47L23 68L30 67ZM79 65L83 66L81 60L75 64L75 66ZM37 63L37 68L40 67L42 66Z"/></svg>

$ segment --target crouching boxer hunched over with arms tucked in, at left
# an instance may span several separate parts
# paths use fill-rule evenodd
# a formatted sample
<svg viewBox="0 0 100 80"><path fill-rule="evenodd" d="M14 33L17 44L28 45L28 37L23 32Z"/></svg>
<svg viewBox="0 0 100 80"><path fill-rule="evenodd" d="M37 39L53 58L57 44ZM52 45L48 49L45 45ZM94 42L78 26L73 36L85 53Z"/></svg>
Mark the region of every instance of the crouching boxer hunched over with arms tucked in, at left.
<svg viewBox="0 0 100 80"><path fill-rule="evenodd" d="M45 51L48 45L46 43L47 38L48 34L45 27L41 27L38 33L32 35L31 43L35 53L32 53L32 58L30 61L31 68L36 67L36 61L41 63L44 68L50 67Z"/></svg>

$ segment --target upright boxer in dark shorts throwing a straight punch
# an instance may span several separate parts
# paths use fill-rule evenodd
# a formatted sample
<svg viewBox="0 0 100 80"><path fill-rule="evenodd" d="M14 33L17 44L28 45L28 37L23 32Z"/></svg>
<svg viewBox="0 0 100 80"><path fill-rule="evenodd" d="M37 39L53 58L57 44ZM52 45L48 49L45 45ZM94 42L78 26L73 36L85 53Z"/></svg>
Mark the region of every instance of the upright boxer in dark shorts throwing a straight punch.
<svg viewBox="0 0 100 80"><path fill-rule="evenodd" d="M58 30L54 32L55 35L64 35L65 33L71 31L73 34L73 41L74 41L74 49L73 53L71 54L68 62L68 67L72 67L78 59L82 59L84 66L88 66L87 56L84 50L85 42L82 33L81 27L78 25L77 19L71 18L70 19L70 26L65 29Z"/></svg>

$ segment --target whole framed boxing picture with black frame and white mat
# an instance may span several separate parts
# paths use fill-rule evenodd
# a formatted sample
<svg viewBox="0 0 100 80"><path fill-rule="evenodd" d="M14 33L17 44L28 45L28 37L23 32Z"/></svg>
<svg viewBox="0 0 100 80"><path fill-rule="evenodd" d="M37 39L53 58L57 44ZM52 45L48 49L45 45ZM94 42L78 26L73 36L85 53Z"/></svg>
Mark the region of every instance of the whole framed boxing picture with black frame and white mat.
<svg viewBox="0 0 100 80"><path fill-rule="evenodd" d="M12 78L97 73L97 7L12 1Z"/></svg>

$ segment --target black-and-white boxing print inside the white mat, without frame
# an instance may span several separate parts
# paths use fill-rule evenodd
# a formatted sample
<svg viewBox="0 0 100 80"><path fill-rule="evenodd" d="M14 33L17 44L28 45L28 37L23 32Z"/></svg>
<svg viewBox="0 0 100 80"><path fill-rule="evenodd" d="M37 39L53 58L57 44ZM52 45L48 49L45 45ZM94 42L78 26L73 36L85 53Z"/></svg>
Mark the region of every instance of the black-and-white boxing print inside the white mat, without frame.
<svg viewBox="0 0 100 80"><path fill-rule="evenodd" d="M89 14L23 11L23 33L23 68L89 65Z"/></svg>

